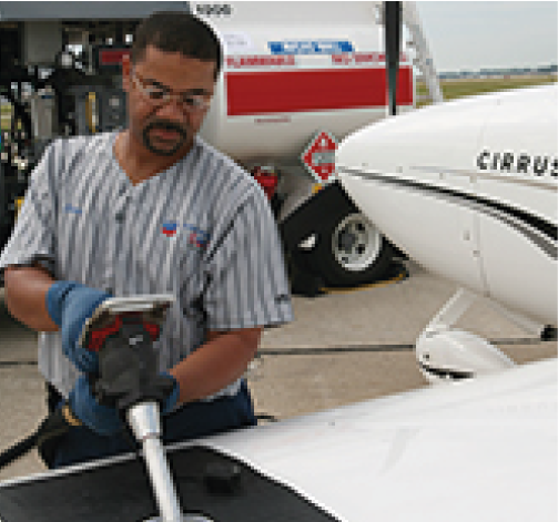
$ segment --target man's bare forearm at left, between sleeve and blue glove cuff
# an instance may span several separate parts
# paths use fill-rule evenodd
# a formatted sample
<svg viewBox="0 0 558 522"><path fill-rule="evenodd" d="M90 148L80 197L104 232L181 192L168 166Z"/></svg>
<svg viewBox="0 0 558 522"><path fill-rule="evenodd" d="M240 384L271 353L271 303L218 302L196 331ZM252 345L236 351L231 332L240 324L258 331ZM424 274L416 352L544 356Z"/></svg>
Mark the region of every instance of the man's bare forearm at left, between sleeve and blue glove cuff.
<svg viewBox="0 0 558 522"><path fill-rule="evenodd" d="M47 309L45 295L54 279L39 267L8 267L4 270L4 299L10 314L40 331L55 331Z"/></svg>

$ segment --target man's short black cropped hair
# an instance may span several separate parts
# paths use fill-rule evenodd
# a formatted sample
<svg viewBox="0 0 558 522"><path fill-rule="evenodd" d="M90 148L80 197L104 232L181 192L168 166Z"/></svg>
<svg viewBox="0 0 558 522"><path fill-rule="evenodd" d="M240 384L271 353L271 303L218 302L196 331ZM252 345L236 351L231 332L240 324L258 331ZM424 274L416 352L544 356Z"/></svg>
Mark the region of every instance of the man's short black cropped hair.
<svg viewBox="0 0 558 522"><path fill-rule="evenodd" d="M215 32L202 20L185 11L154 12L135 30L132 63L145 57L148 45L164 52L215 62L215 78L223 62L221 43Z"/></svg>

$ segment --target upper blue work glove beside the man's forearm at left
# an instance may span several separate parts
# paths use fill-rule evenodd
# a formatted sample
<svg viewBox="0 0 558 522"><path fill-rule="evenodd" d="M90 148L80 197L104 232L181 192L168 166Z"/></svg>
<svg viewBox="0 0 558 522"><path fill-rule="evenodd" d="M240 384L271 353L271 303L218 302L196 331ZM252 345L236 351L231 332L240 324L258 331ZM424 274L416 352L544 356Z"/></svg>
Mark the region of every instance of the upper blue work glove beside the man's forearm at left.
<svg viewBox="0 0 558 522"><path fill-rule="evenodd" d="M85 320L110 294L73 282L57 282L47 293L47 309L60 327L62 351L83 372L94 373L99 368L95 352L83 348L80 336Z"/></svg>

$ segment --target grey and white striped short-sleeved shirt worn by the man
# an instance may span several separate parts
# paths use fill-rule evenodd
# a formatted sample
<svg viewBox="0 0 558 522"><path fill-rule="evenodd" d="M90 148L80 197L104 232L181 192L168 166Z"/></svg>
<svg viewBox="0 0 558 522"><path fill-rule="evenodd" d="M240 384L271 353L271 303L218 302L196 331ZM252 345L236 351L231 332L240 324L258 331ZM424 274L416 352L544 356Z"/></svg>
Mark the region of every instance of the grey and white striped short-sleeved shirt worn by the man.
<svg viewBox="0 0 558 522"><path fill-rule="evenodd" d="M160 370L200 347L207 330L292 320L281 242L257 183L196 137L180 162L134 186L114 156L115 137L57 140L47 149L0 269L40 262L57 279L115 297L174 295L155 344ZM39 368L68 396L78 372L59 332L40 334Z"/></svg>

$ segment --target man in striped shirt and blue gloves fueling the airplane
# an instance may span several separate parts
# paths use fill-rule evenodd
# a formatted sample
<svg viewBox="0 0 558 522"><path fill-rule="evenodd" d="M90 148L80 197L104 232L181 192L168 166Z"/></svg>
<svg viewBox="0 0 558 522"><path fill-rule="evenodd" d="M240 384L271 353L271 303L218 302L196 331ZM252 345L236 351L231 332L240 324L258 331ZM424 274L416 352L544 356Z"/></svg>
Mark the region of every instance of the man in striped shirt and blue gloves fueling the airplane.
<svg viewBox="0 0 558 522"><path fill-rule="evenodd" d="M82 426L50 467L129 451L95 402L98 357L79 344L111 296L172 293L155 348L172 382L165 442L255 423L242 379L262 329L292 319L276 226L257 184L196 136L222 63L212 30L182 12L148 18L123 61L129 125L45 151L0 258L10 313L41 331L50 405Z"/></svg>

